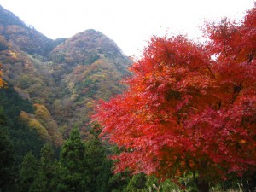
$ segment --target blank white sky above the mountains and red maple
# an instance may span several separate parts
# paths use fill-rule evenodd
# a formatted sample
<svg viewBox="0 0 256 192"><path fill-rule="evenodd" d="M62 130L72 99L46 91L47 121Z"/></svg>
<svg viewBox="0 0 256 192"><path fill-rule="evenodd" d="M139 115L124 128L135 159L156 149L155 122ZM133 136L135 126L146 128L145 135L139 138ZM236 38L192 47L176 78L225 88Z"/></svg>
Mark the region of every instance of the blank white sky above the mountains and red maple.
<svg viewBox="0 0 256 192"><path fill-rule="evenodd" d="M5 9L49 38L96 29L125 55L139 55L152 35L200 37L204 20L240 20L254 0L0 0Z"/></svg>

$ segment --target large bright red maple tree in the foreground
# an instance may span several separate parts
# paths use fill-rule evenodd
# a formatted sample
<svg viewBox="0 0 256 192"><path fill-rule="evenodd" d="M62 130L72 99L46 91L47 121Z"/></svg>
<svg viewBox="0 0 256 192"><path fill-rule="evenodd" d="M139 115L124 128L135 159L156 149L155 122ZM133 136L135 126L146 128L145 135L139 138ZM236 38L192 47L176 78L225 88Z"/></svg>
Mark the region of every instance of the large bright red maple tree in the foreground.
<svg viewBox="0 0 256 192"><path fill-rule="evenodd" d="M96 107L101 136L122 148L115 172L192 172L199 191L231 175L255 179L255 27L254 7L239 25L207 24L207 45L151 39L129 90Z"/></svg>

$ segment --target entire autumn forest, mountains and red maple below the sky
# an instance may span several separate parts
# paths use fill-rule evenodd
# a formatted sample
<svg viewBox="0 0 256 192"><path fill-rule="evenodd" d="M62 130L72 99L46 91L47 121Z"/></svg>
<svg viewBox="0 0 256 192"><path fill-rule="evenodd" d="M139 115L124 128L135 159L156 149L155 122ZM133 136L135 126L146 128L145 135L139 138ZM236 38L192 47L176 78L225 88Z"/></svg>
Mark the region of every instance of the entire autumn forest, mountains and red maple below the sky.
<svg viewBox="0 0 256 192"><path fill-rule="evenodd" d="M131 64L0 5L0 192L256 190L256 8L153 37Z"/></svg>

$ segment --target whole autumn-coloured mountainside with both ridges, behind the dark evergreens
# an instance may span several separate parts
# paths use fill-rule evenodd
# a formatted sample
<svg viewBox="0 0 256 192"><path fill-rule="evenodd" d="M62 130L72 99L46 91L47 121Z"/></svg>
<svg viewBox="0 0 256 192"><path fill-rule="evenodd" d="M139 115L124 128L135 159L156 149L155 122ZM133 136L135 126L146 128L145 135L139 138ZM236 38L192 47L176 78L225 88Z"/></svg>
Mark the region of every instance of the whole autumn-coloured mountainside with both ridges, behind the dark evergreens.
<svg viewBox="0 0 256 192"><path fill-rule="evenodd" d="M83 137L95 100L125 90L131 61L112 39L90 29L72 38L47 38L0 6L0 64L4 79L33 111L20 122L60 146L73 126Z"/></svg>

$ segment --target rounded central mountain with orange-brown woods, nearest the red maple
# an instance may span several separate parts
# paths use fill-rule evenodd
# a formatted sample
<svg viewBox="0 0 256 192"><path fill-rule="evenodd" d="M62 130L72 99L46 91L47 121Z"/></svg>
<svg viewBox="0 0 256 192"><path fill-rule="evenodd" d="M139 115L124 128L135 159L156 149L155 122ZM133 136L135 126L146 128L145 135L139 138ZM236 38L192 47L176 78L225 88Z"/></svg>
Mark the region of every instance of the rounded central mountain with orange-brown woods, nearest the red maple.
<svg viewBox="0 0 256 192"><path fill-rule="evenodd" d="M130 61L102 32L79 32L56 46L49 58L54 61L55 83L61 87L52 112L65 126L62 130L74 124L84 127L90 120L94 100L108 100L125 88L120 81L128 74Z"/></svg>

